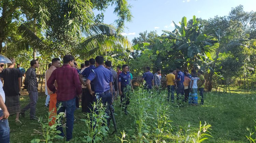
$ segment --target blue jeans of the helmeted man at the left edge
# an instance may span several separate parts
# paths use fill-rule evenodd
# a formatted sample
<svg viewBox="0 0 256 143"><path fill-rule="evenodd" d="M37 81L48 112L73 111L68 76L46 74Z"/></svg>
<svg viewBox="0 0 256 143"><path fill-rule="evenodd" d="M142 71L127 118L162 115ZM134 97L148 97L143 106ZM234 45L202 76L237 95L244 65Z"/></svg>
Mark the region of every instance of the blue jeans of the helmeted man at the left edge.
<svg viewBox="0 0 256 143"><path fill-rule="evenodd" d="M0 117L3 116L3 110L0 110ZM0 120L0 142L10 143L10 128L7 119Z"/></svg>

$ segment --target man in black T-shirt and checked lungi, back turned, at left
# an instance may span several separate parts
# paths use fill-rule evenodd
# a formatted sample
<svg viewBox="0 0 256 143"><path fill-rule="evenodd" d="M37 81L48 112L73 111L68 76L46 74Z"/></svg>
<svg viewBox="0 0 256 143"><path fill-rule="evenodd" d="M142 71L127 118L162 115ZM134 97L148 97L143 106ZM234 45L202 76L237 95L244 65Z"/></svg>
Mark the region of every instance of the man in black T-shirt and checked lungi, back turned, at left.
<svg viewBox="0 0 256 143"><path fill-rule="evenodd" d="M22 123L19 121L20 104L19 104L19 91L22 84L22 73L19 69L14 68L15 59L10 58L12 64L0 73L0 79L3 83L3 90L5 93L5 104L10 115L16 114L15 124L20 126Z"/></svg>

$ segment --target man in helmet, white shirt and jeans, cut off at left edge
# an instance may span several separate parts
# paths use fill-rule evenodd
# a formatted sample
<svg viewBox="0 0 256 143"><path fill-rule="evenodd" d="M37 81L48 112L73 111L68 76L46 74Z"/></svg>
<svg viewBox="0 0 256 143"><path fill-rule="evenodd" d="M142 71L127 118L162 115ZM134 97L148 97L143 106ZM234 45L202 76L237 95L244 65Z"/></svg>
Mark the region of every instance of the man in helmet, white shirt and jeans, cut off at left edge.
<svg viewBox="0 0 256 143"><path fill-rule="evenodd" d="M8 58L7 58L8 59ZM8 59L9 60L9 59ZM3 71L4 64L6 63L6 57L0 55L0 72ZM10 142L10 128L8 123L9 112L4 104L5 94L3 91L3 83L0 82L0 141L1 143Z"/></svg>

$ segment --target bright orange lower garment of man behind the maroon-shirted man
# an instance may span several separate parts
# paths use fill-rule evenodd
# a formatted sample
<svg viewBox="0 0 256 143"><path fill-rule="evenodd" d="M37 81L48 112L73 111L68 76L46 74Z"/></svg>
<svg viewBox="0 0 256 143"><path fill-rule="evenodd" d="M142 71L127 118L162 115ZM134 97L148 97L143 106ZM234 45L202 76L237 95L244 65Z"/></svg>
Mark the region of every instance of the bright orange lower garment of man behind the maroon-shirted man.
<svg viewBox="0 0 256 143"><path fill-rule="evenodd" d="M49 126L52 126L55 124L56 118L53 116L57 115L57 109L56 109L56 103L57 103L57 94L50 94L50 105L49 105L49 112L51 113L49 116L49 119L53 118L52 121L49 122Z"/></svg>

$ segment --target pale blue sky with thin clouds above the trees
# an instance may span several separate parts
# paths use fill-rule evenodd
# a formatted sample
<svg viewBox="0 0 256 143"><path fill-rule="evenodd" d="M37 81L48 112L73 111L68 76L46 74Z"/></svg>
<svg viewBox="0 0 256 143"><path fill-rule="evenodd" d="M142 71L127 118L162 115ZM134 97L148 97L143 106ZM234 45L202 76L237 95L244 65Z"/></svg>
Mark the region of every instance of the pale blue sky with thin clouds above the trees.
<svg viewBox="0 0 256 143"><path fill-rule="evenodd" d="M175 23L181 21L183 16L191 19L209 19L214 16L228 15L232 7L244 6L244 11L256 11L256 0L128 0L132 5L132 22L126 23L127 28L123 35L131 41L138 37L140 32L156 30L173 30ZM109 7L104 13L104 23L113 24L117 19L113 14L114 7Z"/></svg>

